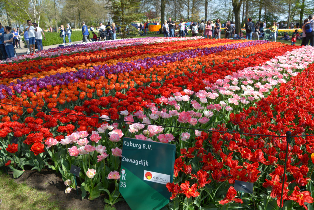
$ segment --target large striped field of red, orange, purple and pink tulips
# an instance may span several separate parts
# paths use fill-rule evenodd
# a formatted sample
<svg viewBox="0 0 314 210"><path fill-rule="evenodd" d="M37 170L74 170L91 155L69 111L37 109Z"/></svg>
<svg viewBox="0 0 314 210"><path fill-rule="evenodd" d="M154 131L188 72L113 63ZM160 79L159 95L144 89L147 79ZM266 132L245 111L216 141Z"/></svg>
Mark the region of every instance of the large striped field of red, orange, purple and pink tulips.
<svg viewBox="0 0 314 210"><path fill-rule="evenodd" d="M14 178L55 170L67 194L75 165L82 199L114 205L129 137L176 145L169 209L279 209L282 185L283 209L313 209L313 57L309 46L203 37L15 57L0 63L0 167ZM292 137L283 180L287 131L309 136Z"/></svg>

